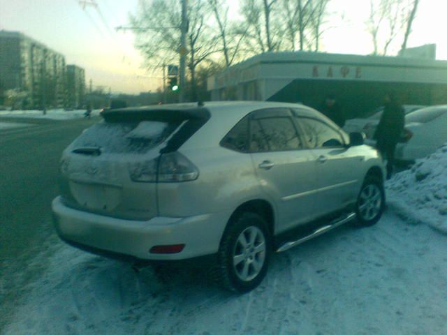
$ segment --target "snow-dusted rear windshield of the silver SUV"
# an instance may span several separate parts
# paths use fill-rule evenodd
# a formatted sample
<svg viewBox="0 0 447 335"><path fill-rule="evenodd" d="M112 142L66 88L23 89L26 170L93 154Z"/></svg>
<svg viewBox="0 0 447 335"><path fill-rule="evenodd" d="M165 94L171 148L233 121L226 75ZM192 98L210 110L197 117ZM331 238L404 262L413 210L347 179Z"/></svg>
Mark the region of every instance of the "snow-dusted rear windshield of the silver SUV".
<svg viewBox="0 0 447 335"><path fill-rule="evenodd" d="M73 149L98 147L105 153L145 154L166 140L178 124L160 121L100 122L73 142Z"/></svg>

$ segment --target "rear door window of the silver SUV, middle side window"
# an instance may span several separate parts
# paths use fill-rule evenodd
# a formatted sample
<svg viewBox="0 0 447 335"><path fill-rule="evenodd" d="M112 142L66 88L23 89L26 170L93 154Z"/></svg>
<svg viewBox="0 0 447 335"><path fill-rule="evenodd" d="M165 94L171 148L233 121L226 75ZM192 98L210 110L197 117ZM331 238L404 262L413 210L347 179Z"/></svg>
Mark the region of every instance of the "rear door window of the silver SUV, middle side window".
<svg viewBox="0 0 447 335"><path fill-rule="evenodd" d="M302 143L290 117L252 119L251 151L281 151L302 148Z"/></svg>

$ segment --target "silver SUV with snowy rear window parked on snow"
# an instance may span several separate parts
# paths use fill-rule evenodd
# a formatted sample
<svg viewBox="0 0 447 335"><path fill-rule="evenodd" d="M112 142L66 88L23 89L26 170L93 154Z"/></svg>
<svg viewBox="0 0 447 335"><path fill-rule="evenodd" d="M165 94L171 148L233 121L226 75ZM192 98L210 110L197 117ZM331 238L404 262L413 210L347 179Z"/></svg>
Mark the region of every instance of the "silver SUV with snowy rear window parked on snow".
<svg viewBox="0 0 447 335"><path fill-rule="evenodd" d="M61 158L64 241L101 255L214 255L217 280L258 285L274 251L383 211L383 162L303 105L218 102L105 110Z"/></svg>

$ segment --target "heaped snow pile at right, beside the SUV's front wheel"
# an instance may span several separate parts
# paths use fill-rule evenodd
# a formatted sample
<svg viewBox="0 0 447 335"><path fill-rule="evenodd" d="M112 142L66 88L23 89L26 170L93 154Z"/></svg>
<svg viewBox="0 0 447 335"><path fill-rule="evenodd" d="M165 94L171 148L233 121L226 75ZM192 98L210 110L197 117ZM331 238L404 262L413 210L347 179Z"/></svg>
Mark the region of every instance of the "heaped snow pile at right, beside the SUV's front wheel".
<svg viewBox="0 0 447 335"><path fill-rule="evenodd" d="M396 174L386 188L388 202L407 220L447 234L447 143Z"/></svg>

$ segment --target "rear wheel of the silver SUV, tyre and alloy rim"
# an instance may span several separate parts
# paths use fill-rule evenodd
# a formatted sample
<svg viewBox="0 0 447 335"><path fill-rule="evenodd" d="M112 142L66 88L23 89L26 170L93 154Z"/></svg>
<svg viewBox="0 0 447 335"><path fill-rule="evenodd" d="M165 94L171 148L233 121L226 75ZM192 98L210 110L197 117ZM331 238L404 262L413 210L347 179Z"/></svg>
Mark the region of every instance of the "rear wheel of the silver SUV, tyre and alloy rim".
<svg viewBox="0 0 447 335"><path fill-rule="evenodd" d="M215 280L233 292L253 290L267 273L271 250L272 237L264 218L250 212L237 215L223 234Z"/></svg>

